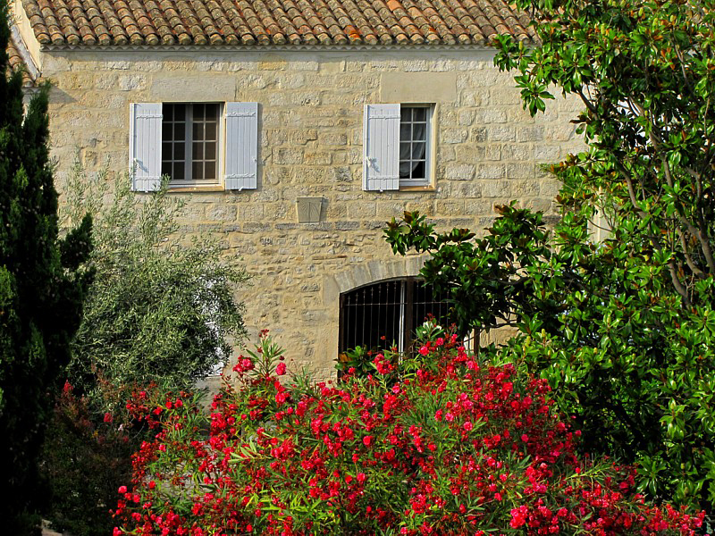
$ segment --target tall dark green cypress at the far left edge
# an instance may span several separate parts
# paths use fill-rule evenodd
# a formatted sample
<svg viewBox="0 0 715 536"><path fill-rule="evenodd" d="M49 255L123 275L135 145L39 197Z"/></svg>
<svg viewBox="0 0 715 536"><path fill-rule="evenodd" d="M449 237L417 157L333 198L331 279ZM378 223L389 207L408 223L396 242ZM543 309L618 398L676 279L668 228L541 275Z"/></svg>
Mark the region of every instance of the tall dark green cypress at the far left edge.
<svg viewBox="0 0 715 536"><path fill-rule="evenodd" d="M47 88L23 113L21 73L5 76L8 5L0 1L0 506L3 530L36 530L38 451L91 271L91 222L58 240L47 148Z"/></svg>

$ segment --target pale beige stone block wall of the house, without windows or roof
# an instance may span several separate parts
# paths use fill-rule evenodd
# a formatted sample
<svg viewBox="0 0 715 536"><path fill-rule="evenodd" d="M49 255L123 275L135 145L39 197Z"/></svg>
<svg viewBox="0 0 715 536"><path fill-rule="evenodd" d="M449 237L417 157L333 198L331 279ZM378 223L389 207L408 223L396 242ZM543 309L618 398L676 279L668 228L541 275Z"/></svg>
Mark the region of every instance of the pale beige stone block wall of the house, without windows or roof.
<svg viewBox="0 0 715 536"><path fill-rule="evenodd" d="M494 205L511 199L552 210L558 184L539 163L579 147L568 122L577 103L557 100L530 118L492 58L408 47L43 52L59 188L76 149L90 172L108 163L112 180L125 177L131 102L258 102L258 188L195 191L183 224L220 233L242 255L254 276L240 291L250 330L270 329L294 360L328 377L340 293L419 269L383 242L392 216L419 210L443 229L484 229ZM389 102L435 105L433 188L363 191L363 105ZM321 222L298 223L304 196L323 197Z"/></svg>

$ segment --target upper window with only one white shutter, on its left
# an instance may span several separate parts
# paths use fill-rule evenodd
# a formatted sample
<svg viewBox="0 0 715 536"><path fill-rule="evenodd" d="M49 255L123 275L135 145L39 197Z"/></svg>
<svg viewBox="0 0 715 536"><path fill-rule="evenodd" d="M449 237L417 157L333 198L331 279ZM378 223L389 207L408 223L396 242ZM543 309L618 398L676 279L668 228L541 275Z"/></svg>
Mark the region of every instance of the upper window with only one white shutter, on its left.
<svg viewBox="0 0 715 536"><path fill-rule="evenodd" d="M366 190L429 187L432 184L431 105L366 105Z"/></svg>

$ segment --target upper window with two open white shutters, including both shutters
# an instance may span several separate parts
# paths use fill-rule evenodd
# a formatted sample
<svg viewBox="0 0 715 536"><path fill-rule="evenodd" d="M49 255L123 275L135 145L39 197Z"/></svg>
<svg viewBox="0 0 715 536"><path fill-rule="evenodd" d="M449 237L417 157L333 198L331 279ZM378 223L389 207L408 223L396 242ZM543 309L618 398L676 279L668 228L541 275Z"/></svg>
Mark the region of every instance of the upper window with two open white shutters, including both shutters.
<svg viewBox="0 0 715 536"><path fill-rule="evenodd" d="M130 105L130 168L137 191L257 187L257 103Z"/></svg>

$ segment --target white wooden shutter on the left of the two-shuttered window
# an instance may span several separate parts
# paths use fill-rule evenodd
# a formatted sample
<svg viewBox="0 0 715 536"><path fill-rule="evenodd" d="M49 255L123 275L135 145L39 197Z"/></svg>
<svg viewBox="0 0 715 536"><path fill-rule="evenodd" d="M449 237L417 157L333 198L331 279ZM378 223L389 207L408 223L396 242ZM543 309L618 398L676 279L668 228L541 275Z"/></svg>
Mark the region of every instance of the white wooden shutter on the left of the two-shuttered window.
<svg viewBox="0 0 715 536"><path fill-rule="evenodd" d="M132 188L156 191L162 183L162 104L130 104L129 130Z"/></svg>

